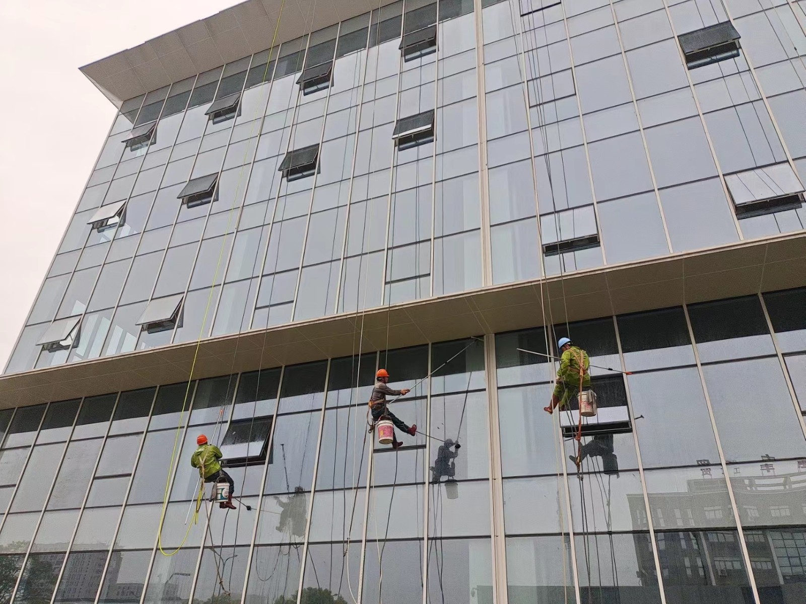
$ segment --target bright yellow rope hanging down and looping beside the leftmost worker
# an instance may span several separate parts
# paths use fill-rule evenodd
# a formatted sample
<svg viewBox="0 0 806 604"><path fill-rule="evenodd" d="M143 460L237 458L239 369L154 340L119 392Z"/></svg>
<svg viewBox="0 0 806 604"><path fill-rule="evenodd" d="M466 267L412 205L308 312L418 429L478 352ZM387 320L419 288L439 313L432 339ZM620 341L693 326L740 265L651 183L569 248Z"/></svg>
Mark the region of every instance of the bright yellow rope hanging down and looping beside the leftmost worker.
<svg viewBox="0 0 806 604"><path fill-rule="evenodd" d="M266 70L264 72L263 81L266 81L266 77L268 75L268 66L272 63L272 61L271 61L272 60L272 50L274 48L274 44L275 44L276 39L277 39L277 31L280 29L280 20L283 17L283 7L284 6L285 6L285 0L283 0L283 2L280 4L280 14L278 14L278 16L277 16L277 22L275 23L275 27L274 27L274 35L272 35L272 43L269 46L268 56L266 57ZM247 76L248 76L248 74L247 74ZM260 110L260 105L258 105L256 107L256 109L255 109L256 116L257 116L259 110ZM255 129L255 123L254 123L254 120L253 120L252 121L252 131L253 132L254 132L254 129ZM246 163L248 150L249 150L249 147L247 146L247 148L244 149L244 151L243 151L242 165L245 165L245 163ZM243 172L241 173L241 176L239 176L238 186L237 186L237 188L235 188L235 195L233 196L232 205L231 205L231 208L230 208L230 216L227 219L226 232L229 232L229 230L230 230L230 225L231 225L231 221L232 221L232 210L235 209L235 203L236 203L236 200L238 199L238 193L239 193L239 190L240 190L242 180L243 180ZM185 531L185 536L182 538L181 543L179 544L179 546L176 549L174 549L172 552L166 552L164 550L164 548L162 547L162 528L163 528L163 524L165 522L165 512L168 510L168 497L169 497L170 489L171 489L171 470L173 468L174 461L176 461L176 458L177 458L177 447L179 445L179 436L180 436L181 430L182 430L182 419L185 416L185 407L187 407L187 403L188 403L188 395L190 394L190 384L193 383L193 370L196 368L196 361L198 359L199 349L202 346L202 338L204 337L204 326L207 323L207 315L210 312L210 305L212 304L212 300L213 300L213 292L214 292L214 289L215 289L215 282L218 279L218 271L221 268L221 261L222 261L223 256L224 256L224 248L225 247L226 247L226 238L224 238L224 240L222 241L221 250L218 253L218 263L216 264L216 267L215 267L215 273L213 275L213 283L210 284L210 296L207 296L207 305L206 305L206 308L205 308L205 311L204 311L204 317L202 318L202 327L199 330L199 337L198 337L198 339L196 341L196 350L193 352L193 362L190 365L190 375L189 375L189 378L188 378L188 386L185 388L185 400L182 402L182 410L181 410L181 412L179 414L179 424L177 425L177 434L176 434L176 436L174 436L174 439L173 439L173 450L171 452L171 461L168 464L168 477L165 479L165 492L164 492L164 496L163 496L163 500L162 500L162 513L160 514L160 526L157 528L157 547L160 548L160 552L162 553L163 556L173 556L174 554L179 552L179 550L185 545L185 541L188 540L188 536L190 535L190 531L193 529L193 525L198 523L198 512L202 507L202 497L204 496L204 485L205 485L203 480L200 481L200 485L199 485L199 493L198 493L198 496L197 496L196 511L193 512L193 521L188 524L188 530Z"/></svg>

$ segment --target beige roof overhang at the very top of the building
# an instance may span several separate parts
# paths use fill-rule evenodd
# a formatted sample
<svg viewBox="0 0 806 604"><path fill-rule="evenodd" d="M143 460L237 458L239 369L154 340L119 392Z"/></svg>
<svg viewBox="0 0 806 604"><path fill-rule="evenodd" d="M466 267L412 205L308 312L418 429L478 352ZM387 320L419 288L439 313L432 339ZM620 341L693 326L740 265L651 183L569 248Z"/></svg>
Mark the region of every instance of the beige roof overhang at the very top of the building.
<svg viewBox="0 0 806 604"><path fill-rule="evenodd" d="M276 46L378 6L374 0L285 0L285 6L284 0L247 0L85 65L81 72L119 108L127 99L266 50L275 29Z"/></svg>

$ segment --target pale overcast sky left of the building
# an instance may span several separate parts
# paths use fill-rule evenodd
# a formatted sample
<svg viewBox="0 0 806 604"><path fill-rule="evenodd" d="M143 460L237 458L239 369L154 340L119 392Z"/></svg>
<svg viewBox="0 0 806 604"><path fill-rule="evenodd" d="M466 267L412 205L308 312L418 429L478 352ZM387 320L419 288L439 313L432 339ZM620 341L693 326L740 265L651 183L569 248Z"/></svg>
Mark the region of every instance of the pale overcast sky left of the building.
<svg viewBox="0 0 806 604"><path fill-rule="evenodd" d="M0 0L0 371L114 107L78 68L239 0Z"/></svg>

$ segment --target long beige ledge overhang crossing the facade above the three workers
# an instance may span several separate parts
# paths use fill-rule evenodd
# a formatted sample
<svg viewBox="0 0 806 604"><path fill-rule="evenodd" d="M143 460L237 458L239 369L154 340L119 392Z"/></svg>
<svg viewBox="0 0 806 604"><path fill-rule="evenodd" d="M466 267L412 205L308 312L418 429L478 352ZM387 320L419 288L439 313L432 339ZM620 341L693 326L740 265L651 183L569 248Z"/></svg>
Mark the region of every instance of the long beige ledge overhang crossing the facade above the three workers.
<svg viewBox="0 0 806 604"><path fill-rule="evenodd" d="M4 375L0 408L804 285L806 233L777 235Z"/></svg>

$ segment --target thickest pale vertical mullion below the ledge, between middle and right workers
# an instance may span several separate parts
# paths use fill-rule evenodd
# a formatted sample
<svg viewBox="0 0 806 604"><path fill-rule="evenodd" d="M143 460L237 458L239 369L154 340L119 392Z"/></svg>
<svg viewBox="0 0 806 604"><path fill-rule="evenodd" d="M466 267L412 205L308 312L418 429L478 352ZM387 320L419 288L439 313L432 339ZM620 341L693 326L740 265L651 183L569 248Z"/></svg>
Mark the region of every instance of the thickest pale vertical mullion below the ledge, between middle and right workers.
<svg viewBox="0 0 806 604"><path fill-rule="evenodd" d="M492 602L507 604L506 536L504 531L504 483L501 469L501 425L498 417L496 337L484 335L484 377L487 385L488 473L490 488L490 547L492 548ZM555 475L556 478L556 475Z"/></svg>

